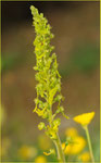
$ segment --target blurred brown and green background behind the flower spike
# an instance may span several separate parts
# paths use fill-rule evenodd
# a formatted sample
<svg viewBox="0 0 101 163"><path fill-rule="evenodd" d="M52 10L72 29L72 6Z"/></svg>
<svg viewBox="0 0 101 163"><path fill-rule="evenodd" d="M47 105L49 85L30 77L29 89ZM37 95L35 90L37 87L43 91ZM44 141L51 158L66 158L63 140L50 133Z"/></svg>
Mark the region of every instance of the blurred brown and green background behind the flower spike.
<svg viewBox="0 0 101 163"><path fill-rule="evenodd" d="M65 113L74 117L80 113L96 112L89 129L96 161L99 161L100 3L68 1L1 3L2 161L34 161L34 156L42 154L41 148L38 147L39 137L43 136L37 128L40 118L33 113L36 82L33 70L35 30L29 10L31 4L48 18L55 36L52 45L55 46L54 51L58 54L62 76ZM67 121L62 116L61 118L62 139L70 126L76 127L85 136L79 125L72 120ZM50 143L49 140L48 142ZM18 151L24 147L23 152L26 155L27 146L33 148L30 153L33 151L34 154L35 150L35 155L22 159ZM49 156L49 161L52 160L55 161Z"/></svg>

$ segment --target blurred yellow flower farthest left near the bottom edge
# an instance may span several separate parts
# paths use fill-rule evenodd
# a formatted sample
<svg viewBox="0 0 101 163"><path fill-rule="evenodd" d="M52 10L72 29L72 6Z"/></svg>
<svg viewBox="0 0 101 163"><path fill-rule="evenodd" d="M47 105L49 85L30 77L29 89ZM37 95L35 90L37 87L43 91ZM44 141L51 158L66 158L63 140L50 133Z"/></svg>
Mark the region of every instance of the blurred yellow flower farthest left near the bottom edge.
<svg viewBox="0 0 101 163"><path fill-rule="evenodd" d="M18 155L23 160L33 159L34 156L37 155L37 149L34 147L23 146L18 150Z"/></svg>

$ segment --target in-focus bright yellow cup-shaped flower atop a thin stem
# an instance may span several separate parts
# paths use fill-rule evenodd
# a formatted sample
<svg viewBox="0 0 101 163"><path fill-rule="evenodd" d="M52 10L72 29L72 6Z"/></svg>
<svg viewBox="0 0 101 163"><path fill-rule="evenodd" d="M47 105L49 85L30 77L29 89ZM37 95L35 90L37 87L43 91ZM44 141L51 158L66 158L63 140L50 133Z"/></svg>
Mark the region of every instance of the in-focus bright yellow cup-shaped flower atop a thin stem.
<svg viewBox="0 0 101 163"><path fill-rule="evenodd" d="M86 126L91 122L93 116L94 116L94 112L91 112L91 113L85 113L85 114L80 114L78 116L75 116L73 120L76 123L79 123L80 125Z"/></svg>

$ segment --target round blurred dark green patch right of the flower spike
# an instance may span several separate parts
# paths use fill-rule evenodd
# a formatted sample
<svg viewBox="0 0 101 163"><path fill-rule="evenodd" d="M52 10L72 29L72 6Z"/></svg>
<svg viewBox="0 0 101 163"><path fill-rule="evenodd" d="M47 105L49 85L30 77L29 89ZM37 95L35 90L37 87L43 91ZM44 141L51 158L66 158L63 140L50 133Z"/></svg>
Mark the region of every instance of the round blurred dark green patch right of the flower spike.
<svg viewBox="0 0 101 163"><path fill-rule="evenodd" d="M73 66L80 72L88 73L99 65L99 48L94 45L83 45L75 50Z"/></svg>

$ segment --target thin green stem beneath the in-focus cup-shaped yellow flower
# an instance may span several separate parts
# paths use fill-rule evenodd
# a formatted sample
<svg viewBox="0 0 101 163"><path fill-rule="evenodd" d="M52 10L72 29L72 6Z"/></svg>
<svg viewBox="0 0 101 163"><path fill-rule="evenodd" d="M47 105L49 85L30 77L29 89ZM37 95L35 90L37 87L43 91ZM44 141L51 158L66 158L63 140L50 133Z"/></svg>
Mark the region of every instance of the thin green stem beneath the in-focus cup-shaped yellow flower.
<svg viewBox="0 0 101 163"><path fill-rule="evenodd" d="M88 146L89 146L91 161L92 161L92 163L94 163L94 158L93 158L93 152L92 152L92 146L91 146L91 139L90 139L90 135L89 135L89 130L88 130L87 126L85 127L85 130L86 130L86 135L87 135L87 140L88 140Z"/></svg>

